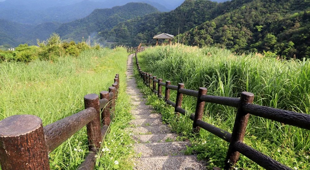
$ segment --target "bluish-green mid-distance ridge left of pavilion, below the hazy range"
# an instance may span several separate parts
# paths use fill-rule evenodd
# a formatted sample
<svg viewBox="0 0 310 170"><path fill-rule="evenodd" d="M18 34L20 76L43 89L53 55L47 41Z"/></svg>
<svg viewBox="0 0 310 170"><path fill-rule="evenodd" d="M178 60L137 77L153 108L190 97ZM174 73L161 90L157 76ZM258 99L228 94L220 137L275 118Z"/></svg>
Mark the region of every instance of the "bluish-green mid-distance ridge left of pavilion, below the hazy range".
<svg viewBox="0 0 310 170"><path fill-rule="evenodd" d="M55 32L62 39L81 41L82 37L95 36L100 31L108 32L120 22L153 12L158 10L149 4L134 2L124 6L96 9L83 19L62 24Z"/></svg>

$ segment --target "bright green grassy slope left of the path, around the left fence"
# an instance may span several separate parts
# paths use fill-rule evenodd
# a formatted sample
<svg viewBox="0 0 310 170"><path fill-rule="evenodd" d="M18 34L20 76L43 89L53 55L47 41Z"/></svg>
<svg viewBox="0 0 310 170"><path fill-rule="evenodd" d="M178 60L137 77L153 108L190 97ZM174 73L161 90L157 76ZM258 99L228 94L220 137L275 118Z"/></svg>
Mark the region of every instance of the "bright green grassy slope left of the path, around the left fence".
<svg viewBox="0 0 310 170"><path fill-rule="evenodd" d="M97 169L113 169L116 160L119 166L129 169L131 147L127 145L131 139L122 130L131 119L124 93L126 59L125 49L117 48L84 51L80 57L60 57L56 62L3 62L0 64L0 120L16 114L33 114L42 119L43 125L50 124L82 110L83 97L108 90L119 73L121 95L117 101L117 118L103 142L110 153L98 156ZM49 154L51 168L76 169L86 154L86 142L86 128L83 128Z"/></svg>

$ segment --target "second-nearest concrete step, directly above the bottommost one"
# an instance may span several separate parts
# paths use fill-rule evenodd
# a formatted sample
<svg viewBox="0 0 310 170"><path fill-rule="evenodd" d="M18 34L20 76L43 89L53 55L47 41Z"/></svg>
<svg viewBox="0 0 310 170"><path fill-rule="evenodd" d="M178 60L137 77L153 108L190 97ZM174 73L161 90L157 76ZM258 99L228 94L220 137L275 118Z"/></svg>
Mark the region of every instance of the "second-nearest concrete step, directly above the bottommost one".
<svg viewBox="0 0 310 170"><path fill-rule="evenodd" d="M144 156L171 156L184 155L188 141L137 143L134 146L135 153Z"/></svg>

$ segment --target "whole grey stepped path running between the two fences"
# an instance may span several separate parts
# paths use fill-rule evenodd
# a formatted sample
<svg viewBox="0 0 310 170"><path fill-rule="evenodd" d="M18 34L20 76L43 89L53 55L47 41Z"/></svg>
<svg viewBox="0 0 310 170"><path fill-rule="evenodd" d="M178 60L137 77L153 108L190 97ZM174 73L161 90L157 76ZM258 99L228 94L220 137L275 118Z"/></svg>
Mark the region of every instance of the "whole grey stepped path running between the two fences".
<svg viewBox="0 0 310 170"><path fill-rule="evenodd" d="M178 141L178 135L171 132L168 125L162 123L160 114L151 106L140 92L133 77L133 57L127 61L127 94L133 104L131 113L135 117L128 131L136 141L134 150L140 155L136 159L135 170L198 170L206 169L206 164L198 161L196 155L184 155L188 141Z"/></svg>

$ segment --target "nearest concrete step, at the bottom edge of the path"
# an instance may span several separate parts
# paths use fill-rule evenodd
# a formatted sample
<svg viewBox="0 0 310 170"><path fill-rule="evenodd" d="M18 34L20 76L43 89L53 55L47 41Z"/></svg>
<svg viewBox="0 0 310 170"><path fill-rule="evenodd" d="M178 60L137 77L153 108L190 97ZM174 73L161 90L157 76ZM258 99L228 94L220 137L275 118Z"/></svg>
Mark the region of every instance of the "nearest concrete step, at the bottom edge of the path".
<svg viewBox="0 0 310 170"><path fill-rule="evenodd" d="M136 159L135 170L206 170L206 163L196 155L153 156Z"/></svg>

